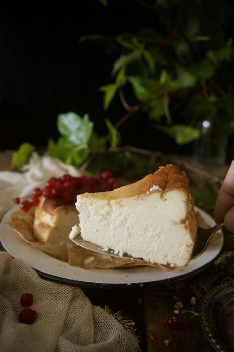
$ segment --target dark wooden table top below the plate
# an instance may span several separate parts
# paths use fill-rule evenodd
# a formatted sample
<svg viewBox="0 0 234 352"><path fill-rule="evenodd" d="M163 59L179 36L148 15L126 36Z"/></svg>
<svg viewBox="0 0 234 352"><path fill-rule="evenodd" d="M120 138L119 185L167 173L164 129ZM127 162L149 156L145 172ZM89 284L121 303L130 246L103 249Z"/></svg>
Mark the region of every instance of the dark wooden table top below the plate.
<svg viewBox="0 0 234 352"><path fill-rule="evenodd" d="M11 153L0 153L0 170L9 168ZM234 250L233 236L229 236L226 250ZM207 269L207 272L209 273ZM133 289L91 289L83 288L85 294L94 305L109 306L113 313L121 311L124 319L136 323L136 334L139 336L142 352L212 352L213 348L207 342L201 329L199 316L191 317L191 313L174 314L175 296L182 300L183 309L189 311L193 306L190 299L196 296L193 290L194 282L199 274L193 278L177 282L173 285L155 285ZM194 306L199 310L199 305ZM180 321L178 330L167 327L167 318L176 315ZM169 340L166 346L165 340Z"/></svg>

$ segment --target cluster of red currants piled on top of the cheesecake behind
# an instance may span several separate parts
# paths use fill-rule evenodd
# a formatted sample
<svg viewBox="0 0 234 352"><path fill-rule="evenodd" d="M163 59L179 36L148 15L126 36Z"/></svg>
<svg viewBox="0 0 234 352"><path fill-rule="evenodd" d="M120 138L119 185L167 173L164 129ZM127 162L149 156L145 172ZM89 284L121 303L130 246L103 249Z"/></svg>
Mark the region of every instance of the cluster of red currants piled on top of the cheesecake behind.
<svg viewBox="0 0 234 352"><path fill-rule="evenodd" d="M23 201L14 198L15 204L20 204L23 211L29 211L32 207L39 204L39 198L59 198L64 203L75 203L78 194L86 192L106 192L121 187L110 171L104 171L91 177L63 175L61 177L51 177L43 189L35 188L30 200Z"/></svg>

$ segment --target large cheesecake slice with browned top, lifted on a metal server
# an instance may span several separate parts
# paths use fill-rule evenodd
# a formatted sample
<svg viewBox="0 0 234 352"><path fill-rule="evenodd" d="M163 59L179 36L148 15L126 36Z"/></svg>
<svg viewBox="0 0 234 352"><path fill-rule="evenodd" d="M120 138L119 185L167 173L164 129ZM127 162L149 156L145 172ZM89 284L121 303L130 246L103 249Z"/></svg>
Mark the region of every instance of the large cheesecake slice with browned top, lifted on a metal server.
<svg viewBox="0 0 234 352"><path fill-rule="evenodd" d="M81 236L121 255L171 267L189 263L197 233L189 180L177 166L110 192L77 196Z"/></svg>

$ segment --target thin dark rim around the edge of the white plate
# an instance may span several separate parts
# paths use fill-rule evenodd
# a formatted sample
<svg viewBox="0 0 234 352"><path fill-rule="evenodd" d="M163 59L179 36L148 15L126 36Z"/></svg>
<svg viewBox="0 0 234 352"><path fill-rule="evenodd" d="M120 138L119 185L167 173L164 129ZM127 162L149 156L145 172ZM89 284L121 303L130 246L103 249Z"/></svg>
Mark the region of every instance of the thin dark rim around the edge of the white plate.
<svg viewBox="0 0 234 352"><path fill-rule="evenodd" d="M12 207L11 209L9 209L3 216L3 218L0 221L0 229L2 227L3 221L5 220L5 217L7 217L7 215L9 213L11 213L11 211L13 211L13 209L16 209L17 207ZM196 208L198 210L201 210L203 212L205 212L203 209L199 208L196 206ZM211 216L209 213L205 212L207 215ZM211 216L212 218L212 216ZM102 283L102 282L89 282L89 281L83 281L83 280L73 280L73 279L67 279L67 278L62 278L60 276L56 276L53 274L48 274L48 273L44 273L41 270L35 269L34 267L32 267L31 265L29 265L33 270L35 270L35 272L42 278L46 279L46 280L50 280L50 281L54 281L57 283L62 283L65 285L71 285L71 286L79 286L79 287L86 287L86 288L99 288L99 289L111 289L111 288L115 288L115 289L125 289L125 288L143 288L143 287L153 287L155 285L162 285L162 284L167 284L167 283L173 283L173 282L177 282L177 281L181 281L181 280L185 280L188 279L194 275L197 275L201 272L203 272L206 268L209 268L213 262L219 257L220 253L222 253L224 245L225 245L225 236L223 235L222 232L222 247L220 248L219 252L217 253L217 255L212 258L209 262L207 262L206 264L192 270L189 273L185 273L185 274L181 274L181 275L177 275L175 277L171 277L171 278L166 278L166 279L160 279L160 280L151 280L151 281L145 281L145 282L135 282L135 283ZM2 241L0 240L0 248L4 251L9 253L3 246ZM10 254L10 253L9 253ZM10 254L13 258L14 256L12 254Z"/></svg>

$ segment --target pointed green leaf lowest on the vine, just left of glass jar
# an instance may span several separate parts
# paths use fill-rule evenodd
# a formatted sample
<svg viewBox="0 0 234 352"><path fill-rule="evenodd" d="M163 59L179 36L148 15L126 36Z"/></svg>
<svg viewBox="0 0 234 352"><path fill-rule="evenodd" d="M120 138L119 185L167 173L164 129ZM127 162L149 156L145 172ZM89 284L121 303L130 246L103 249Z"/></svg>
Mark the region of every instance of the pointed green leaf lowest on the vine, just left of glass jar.
<svg viewBox="0 0 234 352"><path fill-rule="evenodd" d="M162 126L157 125L157 128L175 138L177 144L186 144L200 137L200 131L197 128L186 125Z"/></svg>

